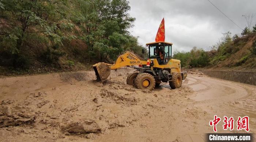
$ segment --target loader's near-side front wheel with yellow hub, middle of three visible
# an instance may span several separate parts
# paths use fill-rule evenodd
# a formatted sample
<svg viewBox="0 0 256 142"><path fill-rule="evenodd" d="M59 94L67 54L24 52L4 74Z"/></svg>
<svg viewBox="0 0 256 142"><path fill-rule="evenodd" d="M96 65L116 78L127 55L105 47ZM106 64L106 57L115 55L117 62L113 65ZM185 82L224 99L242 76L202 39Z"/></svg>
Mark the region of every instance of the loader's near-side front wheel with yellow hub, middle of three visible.
<svg viewBox="0 0 256 142"><path fill-rule="evenodd" d="M135 86L138 89L154 90L155 78L149 73L141 73L135 78Z"/></svg>

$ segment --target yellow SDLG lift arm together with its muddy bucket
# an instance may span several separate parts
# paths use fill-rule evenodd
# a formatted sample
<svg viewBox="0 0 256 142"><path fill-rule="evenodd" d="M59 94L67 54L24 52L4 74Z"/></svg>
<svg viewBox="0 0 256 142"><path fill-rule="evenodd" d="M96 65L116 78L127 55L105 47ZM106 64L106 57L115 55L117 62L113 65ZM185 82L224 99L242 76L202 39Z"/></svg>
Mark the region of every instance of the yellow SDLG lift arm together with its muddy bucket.
<svg viewBox="0 0 256 142"><path fill-rule="evenodd" d="M93 65L97 81L103 81L110 75L110 70L118 69L124 66L133 65L146 65L147 61L140 60L135 54L127 51L125 54L120 55L115 64L107 64L99 62Z"/></svg>

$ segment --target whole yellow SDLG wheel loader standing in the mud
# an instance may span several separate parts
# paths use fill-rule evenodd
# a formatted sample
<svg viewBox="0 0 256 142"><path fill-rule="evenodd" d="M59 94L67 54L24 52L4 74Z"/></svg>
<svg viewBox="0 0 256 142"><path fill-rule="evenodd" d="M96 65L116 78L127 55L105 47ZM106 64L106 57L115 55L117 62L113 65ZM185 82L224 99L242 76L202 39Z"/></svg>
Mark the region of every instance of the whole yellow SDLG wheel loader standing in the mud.
<svg viewBox="0 0 256 142"><path fill-rule="evenodd" d="M138 72L127 77L126 81L129 85L139 89L153 90L161 82L169 81L172 89L180 88L187 73L181 72L180 60L172 59L172 43L152 42L147 43L146 47L148 48L147 61L142 61L135 54L127 51L117 58L115 64L99 62L93 65L97 81L108 78L110 70L130 66Z"/></svg>

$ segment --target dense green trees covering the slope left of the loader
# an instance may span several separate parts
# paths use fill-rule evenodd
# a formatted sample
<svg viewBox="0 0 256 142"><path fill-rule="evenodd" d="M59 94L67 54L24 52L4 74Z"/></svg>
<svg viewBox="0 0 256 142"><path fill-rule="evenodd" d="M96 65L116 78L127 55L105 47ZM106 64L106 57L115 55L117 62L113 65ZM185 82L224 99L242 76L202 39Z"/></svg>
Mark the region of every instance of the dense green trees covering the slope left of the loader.
<svg viewBox="0 0 256 142"><path fill-rule="evenodd" d="M127 50L143 56L128 32L130 9L127 0L0 0L0 66L111 63Z"/></svg>

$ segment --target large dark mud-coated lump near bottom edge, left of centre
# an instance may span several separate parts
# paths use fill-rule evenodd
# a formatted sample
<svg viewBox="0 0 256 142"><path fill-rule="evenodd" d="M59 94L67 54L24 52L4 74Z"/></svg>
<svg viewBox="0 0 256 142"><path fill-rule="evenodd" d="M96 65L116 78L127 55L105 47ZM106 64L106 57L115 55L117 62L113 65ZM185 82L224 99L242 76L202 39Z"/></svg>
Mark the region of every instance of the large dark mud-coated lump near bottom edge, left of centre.
<svg viewBox="0 0 256 142"><path fill-rule="evenodd" d="M67 124L67 126L61 127L61 130L66 134L88 134L88 133L101 133L99 125L91 119L86 119L84 122L73 122Z"/></svg>

